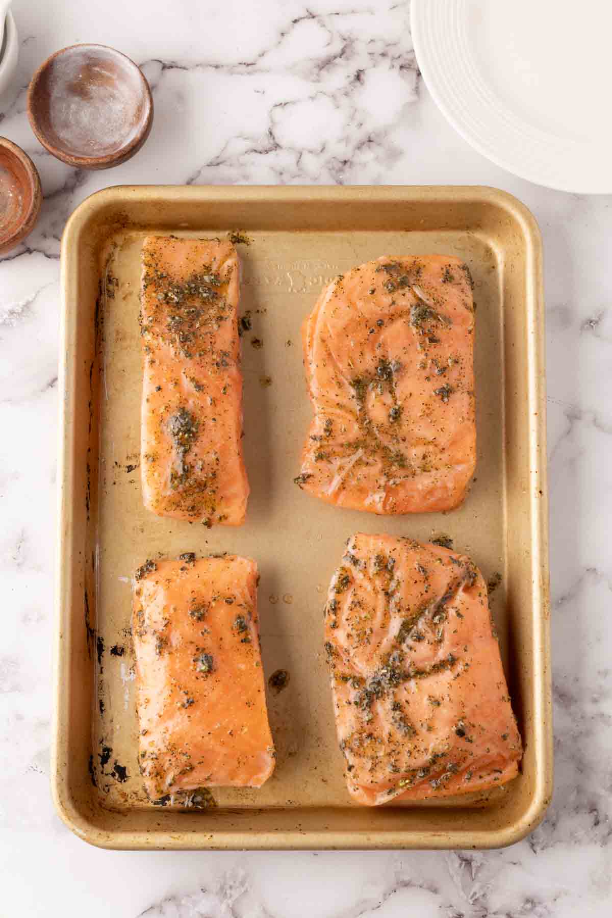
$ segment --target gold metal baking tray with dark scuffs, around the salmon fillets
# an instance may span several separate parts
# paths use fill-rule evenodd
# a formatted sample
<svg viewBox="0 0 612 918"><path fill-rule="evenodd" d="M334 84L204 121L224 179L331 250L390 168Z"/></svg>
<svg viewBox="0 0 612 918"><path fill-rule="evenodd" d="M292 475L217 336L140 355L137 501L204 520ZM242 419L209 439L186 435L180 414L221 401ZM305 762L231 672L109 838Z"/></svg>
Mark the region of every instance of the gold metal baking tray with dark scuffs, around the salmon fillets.
<svg viewBox="0 0 612 918"><path fill-rule="evenodd" d="M240 229L244 448L250 501L233 529L161 519L139 484L139 252L147 232ZM478 465L448 514L375 517L294 484L311 408L300 326L320 288L381 254L458 255L474 279ZM110 847L484 847L509 844L551 793L540 236L489 188L117 187L62 240L62 468L53 788L64 820ZM254 346L257 342L262 346ZM489 794L366 809L344 785L322 610L352 532L448 534L485 578L526 745ZM260 565L263 666L289 673L268 705L276 769L213 789L206 810L159 807L138 771L130 588L146 558L230 552Z"/></svg>

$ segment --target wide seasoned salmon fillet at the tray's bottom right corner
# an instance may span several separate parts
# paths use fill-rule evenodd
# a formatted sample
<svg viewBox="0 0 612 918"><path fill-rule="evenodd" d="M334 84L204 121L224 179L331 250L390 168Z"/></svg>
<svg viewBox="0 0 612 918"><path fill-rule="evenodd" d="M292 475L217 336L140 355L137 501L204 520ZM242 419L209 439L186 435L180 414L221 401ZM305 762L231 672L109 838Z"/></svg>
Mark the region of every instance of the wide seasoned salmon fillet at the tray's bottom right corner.
<svg viewBox="0 0 612 918"><path fill-rule="evenodd" d="M325 630L355 800L446 797L517 775L522 745L469 558L358 533L332 577Z"/></svg>

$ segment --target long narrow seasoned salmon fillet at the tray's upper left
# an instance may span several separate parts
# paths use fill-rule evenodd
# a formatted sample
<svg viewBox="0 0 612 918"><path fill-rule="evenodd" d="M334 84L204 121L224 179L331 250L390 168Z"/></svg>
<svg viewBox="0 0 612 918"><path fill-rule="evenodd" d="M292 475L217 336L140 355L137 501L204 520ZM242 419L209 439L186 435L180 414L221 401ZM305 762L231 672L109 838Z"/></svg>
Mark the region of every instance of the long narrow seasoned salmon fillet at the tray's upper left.
<svg viewBox="0 0 612 918"><path fill-rule="evenodd" d="M238 299L231 242L145 239L140 475L145 507L159 516L244 521Z"/></svg>

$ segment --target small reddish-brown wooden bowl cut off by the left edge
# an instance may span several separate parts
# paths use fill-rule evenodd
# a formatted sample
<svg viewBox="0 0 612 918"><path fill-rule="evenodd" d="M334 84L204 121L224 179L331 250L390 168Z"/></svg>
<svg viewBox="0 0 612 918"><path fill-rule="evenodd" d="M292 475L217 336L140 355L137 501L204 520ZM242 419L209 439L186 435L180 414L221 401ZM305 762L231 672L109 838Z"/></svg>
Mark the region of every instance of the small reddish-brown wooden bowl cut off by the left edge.
<svg viewBox="0 0 612 918"><path fill-rule="evenodd" d="M0 137L0 255L34 229L41 201L39 173L28 153Z"/></svg>

